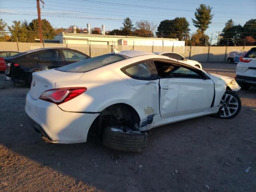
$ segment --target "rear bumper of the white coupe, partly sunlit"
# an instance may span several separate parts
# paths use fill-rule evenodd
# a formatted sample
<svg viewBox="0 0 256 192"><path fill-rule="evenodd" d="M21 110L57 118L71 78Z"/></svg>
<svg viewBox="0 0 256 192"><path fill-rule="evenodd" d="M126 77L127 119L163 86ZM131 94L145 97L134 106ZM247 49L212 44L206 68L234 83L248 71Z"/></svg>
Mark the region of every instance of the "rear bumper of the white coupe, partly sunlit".
<svg viewBox="0 0 256 192"><path fill-rule="evenodd" d="M46 142L64 144L86 142L89 128L99 115L66 112L56 104L34 100L30 93L26 96L25 111Z"/></svg>

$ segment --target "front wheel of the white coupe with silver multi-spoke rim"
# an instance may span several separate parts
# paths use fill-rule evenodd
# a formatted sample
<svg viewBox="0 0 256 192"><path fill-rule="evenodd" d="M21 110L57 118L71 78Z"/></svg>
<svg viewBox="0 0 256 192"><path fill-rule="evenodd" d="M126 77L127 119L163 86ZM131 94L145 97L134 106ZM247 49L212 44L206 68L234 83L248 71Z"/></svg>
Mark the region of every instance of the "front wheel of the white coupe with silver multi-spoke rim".
<svg viewBox="0 0 256 192"><path fill-rule="evenodd" d="M241 106L242 103L238 95L226 90L220 101L220 109L215 116L222 119L232 119L238 115Z"/></svg>

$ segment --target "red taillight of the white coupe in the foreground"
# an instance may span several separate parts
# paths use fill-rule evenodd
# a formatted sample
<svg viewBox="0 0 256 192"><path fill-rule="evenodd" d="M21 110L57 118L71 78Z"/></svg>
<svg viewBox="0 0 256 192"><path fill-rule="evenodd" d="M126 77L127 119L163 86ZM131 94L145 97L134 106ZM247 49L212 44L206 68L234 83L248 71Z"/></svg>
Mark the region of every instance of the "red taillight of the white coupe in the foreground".
<svg viewBox="0 0 256 192"><path fill-rule="evenodd" d="M86 87L67 87L51 89L43 92L40 96L40 99L56 104L61 104L77 97L83 92L86 92L86 90Z"/></svg>

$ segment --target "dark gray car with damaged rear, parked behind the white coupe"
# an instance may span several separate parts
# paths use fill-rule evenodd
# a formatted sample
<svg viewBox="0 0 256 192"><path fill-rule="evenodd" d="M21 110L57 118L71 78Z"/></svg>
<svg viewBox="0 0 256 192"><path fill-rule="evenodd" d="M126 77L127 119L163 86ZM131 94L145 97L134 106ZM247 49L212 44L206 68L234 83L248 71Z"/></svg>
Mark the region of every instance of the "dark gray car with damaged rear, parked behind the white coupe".
<svg viewBox="0 0 256 192"><path fill-rule="evenodd" d="M6 79L15 84L30 85L33 72L65 66L87 58L90 57L70 48L40 48L21 52L4 58Z"/></svg>

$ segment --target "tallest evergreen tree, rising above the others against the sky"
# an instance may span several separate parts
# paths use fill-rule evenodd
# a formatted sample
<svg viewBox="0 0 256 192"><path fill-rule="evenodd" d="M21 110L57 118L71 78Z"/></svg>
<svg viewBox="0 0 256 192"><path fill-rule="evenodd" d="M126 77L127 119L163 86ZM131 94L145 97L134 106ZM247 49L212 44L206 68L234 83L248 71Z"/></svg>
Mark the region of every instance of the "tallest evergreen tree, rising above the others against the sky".
<svg viewBox="0 0 256 192"><path fill-rule="evenodd" d="M204 33L206 29L208 29L209 24L212 23L213 14L211 14L211 12L212 7L200 4L199 8L197 8L195 12L196 20L192 18L194 26L200 29L202 33Z"/></svg>

